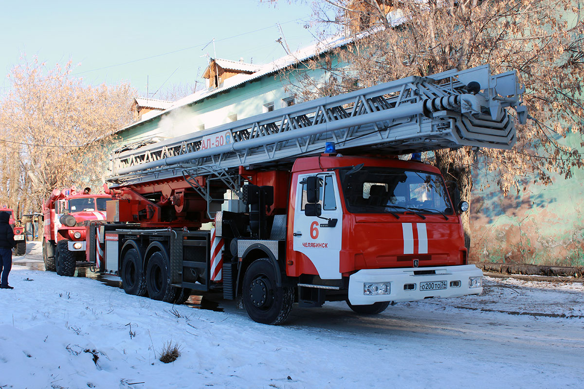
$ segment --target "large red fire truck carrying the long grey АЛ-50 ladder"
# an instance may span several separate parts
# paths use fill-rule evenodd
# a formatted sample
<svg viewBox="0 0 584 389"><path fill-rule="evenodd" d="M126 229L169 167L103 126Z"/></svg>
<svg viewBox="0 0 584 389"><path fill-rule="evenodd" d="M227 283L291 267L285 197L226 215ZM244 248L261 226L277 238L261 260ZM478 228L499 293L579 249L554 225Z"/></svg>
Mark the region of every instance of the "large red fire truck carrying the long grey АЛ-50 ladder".
<svg viewBox="0 0 584 389"><path fill-rule="evenodd" d="M468 203L435 167L395 155L508 149L509 108L526 117L522 93L515 72L480 66L117 150L109 223L88 226L88 260L128 294L180 303L222 290L266 324L294 303L376 314L477 295L482 273L467 264L460 220Z"/></svg>

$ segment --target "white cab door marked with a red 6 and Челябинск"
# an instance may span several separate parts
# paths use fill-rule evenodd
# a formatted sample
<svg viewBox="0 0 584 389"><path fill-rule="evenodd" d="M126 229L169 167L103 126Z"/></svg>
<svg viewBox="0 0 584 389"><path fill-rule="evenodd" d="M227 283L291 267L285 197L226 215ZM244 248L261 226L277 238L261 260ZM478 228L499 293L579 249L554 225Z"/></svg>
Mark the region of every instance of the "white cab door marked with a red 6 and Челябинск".
<svg viewBox="0 0 584 389"><path fill-rule="evenodd" d="M307 216L307 177L319 182L317 206L321 215ZM340 279L340 248L342 244L342 208L335 172L300 174L294 208L293 248L304 254L322 279Z"/></svg>

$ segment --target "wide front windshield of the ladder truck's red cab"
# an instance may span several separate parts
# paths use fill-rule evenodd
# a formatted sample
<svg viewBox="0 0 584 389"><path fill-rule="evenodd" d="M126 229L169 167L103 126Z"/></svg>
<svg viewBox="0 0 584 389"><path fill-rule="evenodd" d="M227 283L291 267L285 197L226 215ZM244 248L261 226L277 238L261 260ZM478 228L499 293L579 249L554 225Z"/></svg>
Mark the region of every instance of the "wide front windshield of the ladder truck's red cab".
<svg viewBox="0 0 584 389"><path fill-rule="evenodd" d="M442 176L425 171L363 167L347 175L339 169L351 213L443 213L452 215Z"/></svg>

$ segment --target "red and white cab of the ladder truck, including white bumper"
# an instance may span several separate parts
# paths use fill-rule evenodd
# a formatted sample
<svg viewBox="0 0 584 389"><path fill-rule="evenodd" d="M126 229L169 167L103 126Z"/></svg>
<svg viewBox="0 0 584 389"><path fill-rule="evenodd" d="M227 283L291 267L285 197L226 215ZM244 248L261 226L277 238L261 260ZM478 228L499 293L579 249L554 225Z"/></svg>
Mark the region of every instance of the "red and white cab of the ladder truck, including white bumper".
<svg viewBox="0 0 584 389"><path fill-rule="evenodd" d="M481 293L482 272L467 265L460 211L436 167L319 156L298 159L291 174L288 276L348 283L356 310Z"/></svg>

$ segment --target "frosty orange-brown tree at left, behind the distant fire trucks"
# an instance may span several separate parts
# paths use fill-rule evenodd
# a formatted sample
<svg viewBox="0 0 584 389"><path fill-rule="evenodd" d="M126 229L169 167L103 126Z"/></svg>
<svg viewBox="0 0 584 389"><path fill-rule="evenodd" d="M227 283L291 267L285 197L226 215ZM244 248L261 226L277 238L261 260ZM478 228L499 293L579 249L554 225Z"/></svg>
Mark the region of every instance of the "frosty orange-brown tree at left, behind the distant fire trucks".
<svg viewBox="0 0 584 389"><path fill-rule="evenodd" d="M0 202L12 208L39 210L55 187L102 184L112 134L131 121L130 85L85 86L71 71L71 61L47 69L25 58L9 74L12 88L0 100Z"/></svg>

